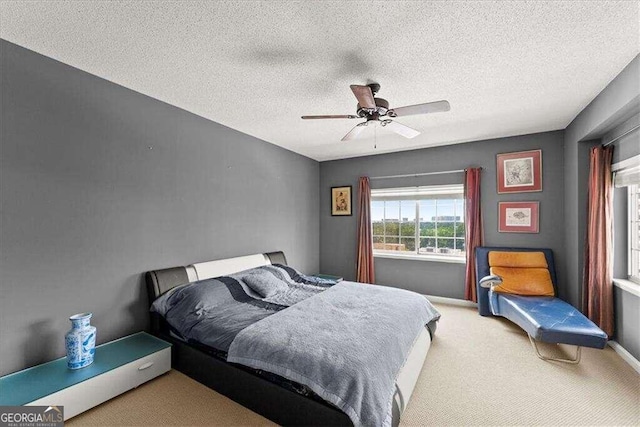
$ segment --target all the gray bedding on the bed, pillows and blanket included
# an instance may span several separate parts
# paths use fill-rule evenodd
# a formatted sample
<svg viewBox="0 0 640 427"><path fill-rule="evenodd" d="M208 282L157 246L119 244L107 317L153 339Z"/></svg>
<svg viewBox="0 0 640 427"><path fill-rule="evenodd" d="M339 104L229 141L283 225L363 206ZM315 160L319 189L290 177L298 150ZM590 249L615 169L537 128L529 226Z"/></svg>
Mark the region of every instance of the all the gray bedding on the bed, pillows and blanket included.
<svg viewBox="0 0 640 427"><path fill-rule="evenodd" d="M391 424L396 377L422 328L440 317L413 292L278 265L174 288L152 311L229 362L309 387L356 426Z"/></svg>

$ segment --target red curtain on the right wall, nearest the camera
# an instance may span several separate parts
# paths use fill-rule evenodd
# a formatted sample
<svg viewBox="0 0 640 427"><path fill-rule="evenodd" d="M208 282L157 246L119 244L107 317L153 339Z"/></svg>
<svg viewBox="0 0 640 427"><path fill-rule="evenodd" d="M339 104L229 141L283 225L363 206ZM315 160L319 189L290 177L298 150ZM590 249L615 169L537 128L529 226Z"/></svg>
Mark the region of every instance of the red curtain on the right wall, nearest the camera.
<svg viewBox="0 0 640 427"><path fill-rule="evenodd" d="M590 154L582 311L607 335L612 336L613 147L594 147Z"/></svg>

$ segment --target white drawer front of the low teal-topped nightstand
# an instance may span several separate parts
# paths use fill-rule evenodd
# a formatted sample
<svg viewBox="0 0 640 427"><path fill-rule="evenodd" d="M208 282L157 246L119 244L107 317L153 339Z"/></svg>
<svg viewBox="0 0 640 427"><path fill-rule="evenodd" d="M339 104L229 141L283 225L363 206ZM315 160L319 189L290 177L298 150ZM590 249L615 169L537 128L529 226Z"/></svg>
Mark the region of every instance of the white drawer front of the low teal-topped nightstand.
<svg viewBox="0 0 640 427"><path fill-rule="evenodd" d="M67 420L170 369L171 348L165 348L27 405L62 405Z"/></svg>

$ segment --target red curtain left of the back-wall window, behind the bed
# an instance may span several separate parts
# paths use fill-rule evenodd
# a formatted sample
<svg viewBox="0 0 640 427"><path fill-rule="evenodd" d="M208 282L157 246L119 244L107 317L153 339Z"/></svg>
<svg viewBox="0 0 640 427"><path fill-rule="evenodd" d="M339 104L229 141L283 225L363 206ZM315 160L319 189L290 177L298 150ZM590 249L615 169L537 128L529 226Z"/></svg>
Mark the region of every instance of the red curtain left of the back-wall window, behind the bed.
<svg viewBox="0 0 640 427"><path fill-rule="evenodd" d="M356 281L374 283L373 236L371 230L371 186L369 178L363 176L358 182L358 258Z"/></svg>

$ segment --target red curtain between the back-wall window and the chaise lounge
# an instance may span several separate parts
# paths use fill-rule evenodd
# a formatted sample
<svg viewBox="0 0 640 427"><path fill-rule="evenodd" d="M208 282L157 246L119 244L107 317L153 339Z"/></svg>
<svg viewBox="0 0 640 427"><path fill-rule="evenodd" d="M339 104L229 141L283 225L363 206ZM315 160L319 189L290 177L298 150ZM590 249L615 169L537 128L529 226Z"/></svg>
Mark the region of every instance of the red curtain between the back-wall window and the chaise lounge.
<svg viewBox="0 0 640 427"><path fill-rule="evenodd" d="M480 208L480 172L482 168L464 170L464 237L467 267L464 279L464 297L473 302L476 295L476 248L482 246L482 210Z"/></svg>

